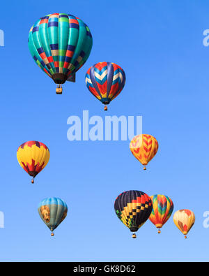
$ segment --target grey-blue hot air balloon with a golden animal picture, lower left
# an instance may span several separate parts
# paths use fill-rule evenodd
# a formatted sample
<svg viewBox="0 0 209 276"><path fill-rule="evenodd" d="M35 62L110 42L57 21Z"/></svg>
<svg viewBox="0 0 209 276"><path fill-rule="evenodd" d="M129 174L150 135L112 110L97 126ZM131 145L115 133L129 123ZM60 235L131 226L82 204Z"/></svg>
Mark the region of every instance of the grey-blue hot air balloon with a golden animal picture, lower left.
<svg viewBox="0 0 209 276"><path fill-rule="evenodd" d="M38 213L42 221L52 231L51 235L53 237L53 231L67 216L68 206L60 198L45 198L38 205Z"/></svg>

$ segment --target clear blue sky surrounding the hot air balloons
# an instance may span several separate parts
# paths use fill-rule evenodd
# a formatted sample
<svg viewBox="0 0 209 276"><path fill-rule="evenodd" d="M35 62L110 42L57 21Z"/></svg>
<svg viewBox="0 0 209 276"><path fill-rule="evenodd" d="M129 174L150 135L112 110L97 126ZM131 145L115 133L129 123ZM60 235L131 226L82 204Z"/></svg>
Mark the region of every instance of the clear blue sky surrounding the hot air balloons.
<svg viewBox="0 0 209 276"><path fill-rule="evenodd" d="M103 6L102 6L102 3ZM1 261L208 261L209 3L203 0L4 1L0 29ZM54 82L34 63L27 45L31 25L48 13L71 13L91 29L93 50L77 83L55 94ZM86 88L98 61L124 68L127 82L108 115L142 115L143 131L159 141L144 172L129 142L70 142L67 119L89 110L107 115ZM51 152L35 184L17 164L17 147L40 140ZM196 224L184 240L171 218L157 235L147 223L137 240L114 213L122 191L166 194L174 211L188 208ZM51 238L37 206L57 196L68 217Z"/></svg>

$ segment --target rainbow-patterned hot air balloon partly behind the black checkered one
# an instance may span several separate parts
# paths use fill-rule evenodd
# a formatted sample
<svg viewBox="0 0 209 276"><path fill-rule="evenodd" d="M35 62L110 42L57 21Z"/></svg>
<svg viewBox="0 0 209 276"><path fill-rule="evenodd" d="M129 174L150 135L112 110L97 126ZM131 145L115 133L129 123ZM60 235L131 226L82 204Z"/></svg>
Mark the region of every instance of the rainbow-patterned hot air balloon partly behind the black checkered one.
<svg viewBox="0 0 209 276"><path fill-rule="evenodd" d="M149 219L158 228L158 233L161 233L160 228L169 220L173 212L173 201L161 194L155 194L150 198L153 201L153 211Z"/></svg>

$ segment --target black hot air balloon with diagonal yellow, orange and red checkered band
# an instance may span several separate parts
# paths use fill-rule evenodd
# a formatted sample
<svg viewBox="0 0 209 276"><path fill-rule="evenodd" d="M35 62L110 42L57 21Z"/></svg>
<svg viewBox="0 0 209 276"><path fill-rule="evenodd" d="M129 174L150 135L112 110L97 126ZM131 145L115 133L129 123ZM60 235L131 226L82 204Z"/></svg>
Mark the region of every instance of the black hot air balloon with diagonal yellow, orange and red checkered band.
<svg viewBox="0 0 209 276"><path fill-rule="evenodd" d="M143 191L125 191L120 194L114 205L116 215L130 231L135 232L147 221L153 209L151 198Z"/></svg>

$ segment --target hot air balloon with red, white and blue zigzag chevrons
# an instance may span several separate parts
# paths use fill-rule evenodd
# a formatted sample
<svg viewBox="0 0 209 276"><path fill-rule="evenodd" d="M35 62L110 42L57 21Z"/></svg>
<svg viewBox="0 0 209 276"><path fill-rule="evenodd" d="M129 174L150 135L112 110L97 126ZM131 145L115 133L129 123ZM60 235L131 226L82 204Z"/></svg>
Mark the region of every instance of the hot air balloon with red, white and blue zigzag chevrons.
<svg viewBox="0 0 209 276"><path fill-rule="evenodd" d="M91 66L86 73L88 90L104 105L108 105L121 93L125 85L125 72L117 64L99 62ZM104 106L107 110L107 106Z"/></svg>

